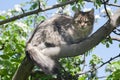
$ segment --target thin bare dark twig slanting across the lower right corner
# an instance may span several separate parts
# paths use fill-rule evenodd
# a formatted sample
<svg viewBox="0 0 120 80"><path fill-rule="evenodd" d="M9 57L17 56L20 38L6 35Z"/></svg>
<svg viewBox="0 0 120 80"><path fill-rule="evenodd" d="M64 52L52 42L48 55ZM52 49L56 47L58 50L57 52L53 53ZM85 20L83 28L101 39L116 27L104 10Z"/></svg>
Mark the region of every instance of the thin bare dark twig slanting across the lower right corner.
<svg viewBox="0 0 120 80"><path fill-rule="evenodd" d="M89 72L93 72L93 71L101 68L101 67L104 66L105 64L110 63L112 60L114 60L114 59L116 59L116 58L118 58L118 57L120 57L120 54L118 54L117 56L115 56L115 57L113 57L113 58L110 58L108 61L102 63L100 66L98 66L98 67L96 67L96 68L93 68L93 69L91 69L91 70L82 72L82 73L78 73L78 74L76 74L76 76L79 76L79 75L82 75L82 74L87 74L87 73L89 73Z"/></svg>

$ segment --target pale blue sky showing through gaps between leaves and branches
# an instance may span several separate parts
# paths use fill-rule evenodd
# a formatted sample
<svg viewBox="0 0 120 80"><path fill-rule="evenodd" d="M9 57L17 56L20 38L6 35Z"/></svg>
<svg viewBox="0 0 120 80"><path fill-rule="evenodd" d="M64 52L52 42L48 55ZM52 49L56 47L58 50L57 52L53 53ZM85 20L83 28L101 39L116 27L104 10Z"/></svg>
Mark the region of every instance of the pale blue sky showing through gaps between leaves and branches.
<svg viewBox="0 0 120 80"><path fill-rule="evenodd" d="M22 2L25 2L28 0L0 0L0 11L3 10L8 10L8 9L12 9L14 8L15 4L19 4ZM54 2L54 0L50 0L50 4L52 4ZM118 3L120 4L120 1L118 0ZM89 4L85 6L86 8L92 8L93 5ZM112 8L112 7L111 7ZM97 9L95 10L95 14L99 14L101 9ZM116 10L116 8L112 8L113 11ZM105 23L106 19L100 19L97 23L95 23L94 25L94 32L100 28L104 23ZM113 35L114 36L114 35ZM106 48L105 45L103 44L99 44L98 46L96 46L94 48L94 51L92 52L92 54L97 54L99 57L103 58L103 61L107 61L108 59L110 59L111 57L114 57L115 55L119 54L119 42L117 41L113 41L113 44L110 45L110 48ZM89 60L91 59L91 56L87 57L87 61L89 62ZM105 72L103 71L105 67L99 69L99 76L104 76Z"/></svg>

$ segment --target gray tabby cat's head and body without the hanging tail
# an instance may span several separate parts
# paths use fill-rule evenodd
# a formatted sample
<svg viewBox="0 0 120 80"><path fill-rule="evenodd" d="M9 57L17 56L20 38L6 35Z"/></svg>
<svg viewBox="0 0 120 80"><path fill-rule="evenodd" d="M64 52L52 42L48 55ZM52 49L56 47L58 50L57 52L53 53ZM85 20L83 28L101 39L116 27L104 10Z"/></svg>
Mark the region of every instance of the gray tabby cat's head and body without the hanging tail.
<svg viewBox="0 0 120 80"><path fill-rule="evenodd" d="M93 31L94 9L77 11L74 17L57 14L42 22L31 40L39 48L78 43Z"/></svg>

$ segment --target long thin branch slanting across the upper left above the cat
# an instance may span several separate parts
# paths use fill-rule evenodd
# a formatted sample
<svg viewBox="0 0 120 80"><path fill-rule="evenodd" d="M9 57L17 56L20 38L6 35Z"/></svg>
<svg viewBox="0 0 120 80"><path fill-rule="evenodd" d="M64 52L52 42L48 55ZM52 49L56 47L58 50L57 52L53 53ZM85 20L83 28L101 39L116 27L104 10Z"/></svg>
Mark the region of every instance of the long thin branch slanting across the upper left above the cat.
<svg viewBox="0 0 120 80"><path fill-rule="evenodd" d="M51 6L51 7L46 8L46 9L38 8L37 10L30 11L30 12L26 12L26 13L23 13L23 14L20 14L20 15L17 15L17 16L14 16L14 17L11 17L11 18L2 20L2 21L0 21L0 25L6 24L6 23L8 23L8 22L15 21L15 20L17 20L17 19L20 19L20 18L29 16L29 15L38 14L39 12L44 12L44 11L47 11L47 10L50 10L50 9L54 9L54 8L58 8L58 7L61 7L61 6L65 6L65 5L67 5L67 4L71 4L71 3L74 3L74 2L76 2L76 1L77 1L77 0L67 1L67 2L64 2L64 3L60 3L60 4L53 5L53 6Z"/></svg>

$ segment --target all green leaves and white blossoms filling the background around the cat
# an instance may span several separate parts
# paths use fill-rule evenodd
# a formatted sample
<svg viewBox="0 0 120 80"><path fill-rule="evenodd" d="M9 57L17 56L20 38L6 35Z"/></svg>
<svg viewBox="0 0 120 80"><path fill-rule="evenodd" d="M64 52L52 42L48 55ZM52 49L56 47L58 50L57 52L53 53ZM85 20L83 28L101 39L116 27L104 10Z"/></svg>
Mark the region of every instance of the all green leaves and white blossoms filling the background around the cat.
<svg viewBox="0 0 120 80"><path fill-rule="evenodd" d="M22 3L17 5L16 8L10 9L5 13L1 13L0 21L10 18L13 15L22 14L25 11L35 10L38 7L38 1L40 1L40 7L43 9L47 6L47 0L31 0L29 2ZM66 2L67 0L57 0L58 3ZM96 8L102 6L101 0L91 0L94 3ZM118 0L114 0L114 3L117 3ZM27 6L26 8L26 5ZM75 11L76 9L82 9L85 5L84 0L78 0L76 3L70 4L71 10ZM67 6L67 5L66 5ZM22 10L22 7L25 9ZM65 6L64 6L65 7ZM64 8L63 8L64 9ZM0 25L0 78L1 80L10 80L18 68L19 64L22 62L25 57L25 45L33 30L33 26L39 23L42 20L45 20L49 16L45 15L46 13L39 13L36 15L27 16L26 18L13 21L4 25ZM52 13L53 14L53 13ZM106 38L102 41L103 44L109 48L113 44L111 37ZM77 75L85 71L85 67L89 69L94 69L95 67L102 64L103 61L97 55L92 55L92 58L89 60L89 63L86 63L86 57L90 56L89 54L83 56L77 56L72 58L60 59L61 74L64 76L71 76L71 80L97 80L97 70L90 73L84 73L82 75ZM38 71L39 68L35 67L33 71ZM107 77L107 80L118 80L120 75L120 61L112 62L106 68L106 72L110 74ZM69 73L69 74L68 74ZM92 76L94 74L94 76ZM32 77L32 78L31 78ZM56 76L45 74L35 74L34 76L30 75L29 80L41 79L41 80L52 80Z"/></svg>

